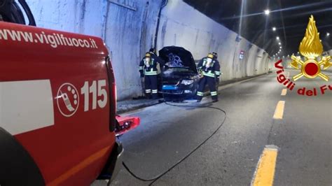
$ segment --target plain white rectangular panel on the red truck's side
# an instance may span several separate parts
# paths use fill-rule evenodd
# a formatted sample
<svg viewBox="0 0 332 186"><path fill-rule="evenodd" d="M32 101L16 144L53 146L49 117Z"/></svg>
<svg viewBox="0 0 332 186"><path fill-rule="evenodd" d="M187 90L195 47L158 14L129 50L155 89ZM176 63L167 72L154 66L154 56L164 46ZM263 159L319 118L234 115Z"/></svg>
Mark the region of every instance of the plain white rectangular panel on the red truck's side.
<svg viewBox="0 0 332 186"><path fill-rule="evenodd" d="M0 82L0 127L15 135L53 124L50 80Z"/></svg>

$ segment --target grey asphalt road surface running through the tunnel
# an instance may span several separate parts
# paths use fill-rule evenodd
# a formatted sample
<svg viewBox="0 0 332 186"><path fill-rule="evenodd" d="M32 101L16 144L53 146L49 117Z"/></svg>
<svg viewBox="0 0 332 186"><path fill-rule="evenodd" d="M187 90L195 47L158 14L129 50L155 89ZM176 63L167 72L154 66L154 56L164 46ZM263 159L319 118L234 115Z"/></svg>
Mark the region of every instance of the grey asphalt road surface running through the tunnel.
<svg viewBox="0 0 332 186"><path fill-rule="evenodd" d="M289 72L290 78L298 73ZM332 91L311 97L297 93L300 87L317 87L319 92L322 85L332 85L331 80L301 78L293 91L282 96L285 87L276 76L272 73L221 90L219 102L212 104L227 112L221 129L153 185L250 185L266 145L275 145L278 150L274 185L332 185ZM206 98L201 104L211 105L209 101ZM284 101L284 109L279 110L283 115L277 120L273 117L279 101ZM225 117L211 108L165 103L127 115L141 117L141 125L120 138L125 163L143 178L157 176L178 162ZM111 185L148 184L121 169Z"/></svg>

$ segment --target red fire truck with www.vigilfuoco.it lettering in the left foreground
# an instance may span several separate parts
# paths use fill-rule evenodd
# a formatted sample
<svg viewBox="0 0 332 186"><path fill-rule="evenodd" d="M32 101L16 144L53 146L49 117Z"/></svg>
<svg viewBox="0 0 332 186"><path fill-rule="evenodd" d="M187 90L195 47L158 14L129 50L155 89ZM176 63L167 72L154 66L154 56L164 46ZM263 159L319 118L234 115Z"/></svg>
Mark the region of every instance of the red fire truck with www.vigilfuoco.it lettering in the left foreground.
<svg viewBox="0 0 332 186"><path fill-rule="evenodd" d="M20 14L15 1L4 3ZM13 12L6 17L1 8L10 20ZM116 130L137 127L139 118L116 116L102 39L0 22L0 54L0 185L113 179L123 155Z"/></svg>

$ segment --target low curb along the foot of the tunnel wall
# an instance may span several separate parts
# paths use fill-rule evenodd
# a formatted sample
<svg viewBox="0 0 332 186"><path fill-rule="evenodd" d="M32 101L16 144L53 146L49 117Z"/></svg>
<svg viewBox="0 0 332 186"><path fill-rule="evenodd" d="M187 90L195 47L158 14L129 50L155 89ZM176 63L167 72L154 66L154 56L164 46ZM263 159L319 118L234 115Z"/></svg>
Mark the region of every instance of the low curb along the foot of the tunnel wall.
<svg viewBox="0 0 332 186"><path fill-rule="evenodd" d="M230 80L230 82L226 82L223 85L219 85L218 92L220 93L221 90L227 89L228 87L233 87L234 85L238 85L240 83L244 83L244 82L247 82L249 80L254 80L256 78L260 78L261 76L265 76L267 74L268 73L263 73L263 74L260 74L260 75L257 75L257 76L249 76L247 78L243 78L243 79L235 80L235 81ZM209 94L210 94L209 91L204 92L204 96L209 96ZM116 109L116 113L117 114L127 113L127 112L130 112L130 111L133 111L133 110L138 110L140 108L155 106L155 105L158 105L160 103L163 103L163 101L161 101L160 99L156 99L155 101L151 101L151 102L148 102L148 103L138 103L137 105L131 106L130 108L126 108L126 107L118 108L118 109Z"/></svg>

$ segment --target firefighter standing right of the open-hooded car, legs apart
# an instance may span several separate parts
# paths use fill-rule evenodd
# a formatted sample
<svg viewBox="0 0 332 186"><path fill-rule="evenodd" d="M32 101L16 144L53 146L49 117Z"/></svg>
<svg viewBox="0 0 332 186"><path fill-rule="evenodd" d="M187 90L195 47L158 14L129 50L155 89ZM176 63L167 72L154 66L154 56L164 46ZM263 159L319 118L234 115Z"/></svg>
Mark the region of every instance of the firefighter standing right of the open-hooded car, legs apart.
<svg viewBox="0 0 332 186"><path fill-rule="evenodd" d="M218 101L218 92L216 91L216 80L219 80L220 76L220 64L216 59L216 52L209 53L207 57L204 57L198 64L198 71L200 71L200 83L197 92L197 101L202 101L205 85L209 85L212 101Z"/></svg>

